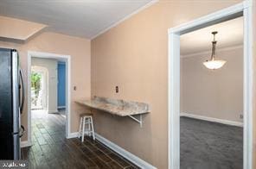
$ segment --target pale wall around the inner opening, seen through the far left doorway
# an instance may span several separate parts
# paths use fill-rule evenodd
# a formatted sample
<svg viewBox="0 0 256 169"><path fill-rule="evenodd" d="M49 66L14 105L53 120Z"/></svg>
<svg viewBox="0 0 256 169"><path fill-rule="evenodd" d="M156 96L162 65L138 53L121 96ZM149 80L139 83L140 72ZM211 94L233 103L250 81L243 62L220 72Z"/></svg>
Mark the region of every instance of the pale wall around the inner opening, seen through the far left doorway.
<svg viewBox="0 0 256 169"><path fill-rule="evenodd" d="M36 57L36 56L35 56ZM32 58L31 66L42 66L48 70L48 96L47 107L48 113L58 112L58 60L56 59L42 59L42 58Z"/></svg>

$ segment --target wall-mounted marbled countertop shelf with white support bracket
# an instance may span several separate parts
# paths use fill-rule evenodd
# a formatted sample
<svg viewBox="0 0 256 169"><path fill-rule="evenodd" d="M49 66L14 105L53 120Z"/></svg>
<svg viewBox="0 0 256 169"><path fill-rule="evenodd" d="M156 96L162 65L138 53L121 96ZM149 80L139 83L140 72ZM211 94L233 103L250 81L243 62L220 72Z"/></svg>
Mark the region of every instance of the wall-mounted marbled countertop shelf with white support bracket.
<svg viewBox="0 0 256 169"><path fill-rule="evenodd" d="M116 116L129 116L135 122L140 123L141 127L142 115L150 112L150 106L147 103L107 97L93 97L92 99L76 101L76 103L80 103L96 110L103 110ZM136 115L139 115L139 119L134 117Z"/></svg>

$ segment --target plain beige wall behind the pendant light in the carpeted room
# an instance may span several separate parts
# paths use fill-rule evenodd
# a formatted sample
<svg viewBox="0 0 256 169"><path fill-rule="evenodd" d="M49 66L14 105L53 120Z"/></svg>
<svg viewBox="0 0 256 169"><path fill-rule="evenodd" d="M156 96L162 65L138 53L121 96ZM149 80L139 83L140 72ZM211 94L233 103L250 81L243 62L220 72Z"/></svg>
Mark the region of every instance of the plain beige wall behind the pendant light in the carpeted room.
<svg viewBox="0 0 256 169"><path fill-rule="evenodd" d="M210 53L181 59L181 112L243 121L243 48L226 50L217 50L218 57L227 61L218 70L202 65Z"/></svg>

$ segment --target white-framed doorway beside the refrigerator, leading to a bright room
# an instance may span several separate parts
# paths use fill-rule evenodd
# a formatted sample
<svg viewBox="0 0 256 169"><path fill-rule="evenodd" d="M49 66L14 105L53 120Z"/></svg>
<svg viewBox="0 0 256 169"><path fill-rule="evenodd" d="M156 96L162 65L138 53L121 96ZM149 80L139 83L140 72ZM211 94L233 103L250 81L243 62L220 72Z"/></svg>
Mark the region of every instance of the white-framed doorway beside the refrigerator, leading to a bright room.
<svg viewBox="0 0 256 169"><path fill-rule="evenodd" d="M65 64L65 69L61 72L62 76L65 76L64 81L61 81L61 86L64 86L61 97L65 97L63 103L65 107L61 107L62 110L58 107L59 63ZM55 138L63 140L70 136L70 63L71 59L68 55L31 51L28 53L28 141L30 145L34 141L40 145ZM52 137L53 135L55 136Z"/></svg>

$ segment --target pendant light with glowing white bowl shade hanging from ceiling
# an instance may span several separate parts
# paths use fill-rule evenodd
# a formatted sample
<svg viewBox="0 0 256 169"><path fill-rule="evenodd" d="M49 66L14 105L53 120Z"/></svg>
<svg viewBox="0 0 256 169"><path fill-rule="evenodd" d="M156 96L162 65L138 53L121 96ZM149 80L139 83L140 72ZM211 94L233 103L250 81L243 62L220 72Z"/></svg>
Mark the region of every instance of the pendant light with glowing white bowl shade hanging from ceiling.
<svg viewBox="0 0 256 169"><path fill-rule="evenodd" d="M215 70L215 69L219 69L222 66L224 66L227 61L225 61L223 59L215 58L215 50L216 50L216 44L217 44L217 41L215 41L215 34L218 34L218 32L214 31L214 32L212 32L212 34L214 34L214 41L212 41L213 47L212 47L211 59L203 62L203 65L206 66L208 69Z"/></svg>

